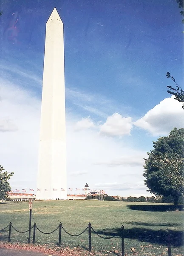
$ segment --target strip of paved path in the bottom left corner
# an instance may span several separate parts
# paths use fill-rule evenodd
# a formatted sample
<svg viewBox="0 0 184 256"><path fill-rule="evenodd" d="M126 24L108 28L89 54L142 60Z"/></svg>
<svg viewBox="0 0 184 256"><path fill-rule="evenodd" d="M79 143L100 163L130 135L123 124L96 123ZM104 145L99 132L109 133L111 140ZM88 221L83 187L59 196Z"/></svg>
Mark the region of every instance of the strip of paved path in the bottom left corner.
<svg viewBox="0 0 184 256"><path fill-rule="evenodd" d="M0 256L48 256L49 254L0 248ZM53 255L53 254L50 254ZM54 256L54 255L53 255Z"/></svg>

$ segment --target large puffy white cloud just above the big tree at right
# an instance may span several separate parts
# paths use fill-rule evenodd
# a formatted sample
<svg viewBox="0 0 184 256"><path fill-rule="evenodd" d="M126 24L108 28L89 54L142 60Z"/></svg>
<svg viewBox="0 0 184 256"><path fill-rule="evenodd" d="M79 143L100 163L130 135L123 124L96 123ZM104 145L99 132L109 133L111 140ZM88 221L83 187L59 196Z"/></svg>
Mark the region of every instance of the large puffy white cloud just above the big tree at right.
<svg viewBox="0 0 184 256"><path fill-rule="evenodd" d="M184 127L184 110L181 106L182 103L176 101L174 96L166 98L134 122L134 125L149 131L153 136L168 135L174 127Z"/></svg>

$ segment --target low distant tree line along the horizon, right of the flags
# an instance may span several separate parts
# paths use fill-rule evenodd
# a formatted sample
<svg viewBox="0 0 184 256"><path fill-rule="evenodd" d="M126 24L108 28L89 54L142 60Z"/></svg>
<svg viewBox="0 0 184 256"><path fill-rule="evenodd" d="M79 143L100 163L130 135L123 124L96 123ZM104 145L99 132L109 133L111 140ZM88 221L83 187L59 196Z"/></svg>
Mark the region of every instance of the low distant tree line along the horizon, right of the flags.
<svg viewBox="0 0 184 256"><path fill-rule="evenodd" d="M110 195L104 195L104 201L124 201L124 202L148 202L148 203L167 203L167 204L173 204L174 203L174 198L173 196L160 196L160 197L133 197L129 196L127 198L123 198L120 196L110 196ZM178 200L179 204L184 204L184 197L180 196Z"/></svg>

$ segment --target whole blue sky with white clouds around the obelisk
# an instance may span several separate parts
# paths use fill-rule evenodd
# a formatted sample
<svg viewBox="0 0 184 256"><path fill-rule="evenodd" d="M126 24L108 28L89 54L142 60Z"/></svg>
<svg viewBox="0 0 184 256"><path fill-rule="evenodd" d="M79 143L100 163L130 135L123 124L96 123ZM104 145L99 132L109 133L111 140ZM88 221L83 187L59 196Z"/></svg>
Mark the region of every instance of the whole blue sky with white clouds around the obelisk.
<svg viewBox="0 0 184 256"><path fill-rule="evenodd" d="M36 189L45 23L54 7L64 23L68 187L149 195L143 157L159 136L184 127L165 76L183 84L175 0L1 1L0 164L14 172L12 188Z"/></svg>

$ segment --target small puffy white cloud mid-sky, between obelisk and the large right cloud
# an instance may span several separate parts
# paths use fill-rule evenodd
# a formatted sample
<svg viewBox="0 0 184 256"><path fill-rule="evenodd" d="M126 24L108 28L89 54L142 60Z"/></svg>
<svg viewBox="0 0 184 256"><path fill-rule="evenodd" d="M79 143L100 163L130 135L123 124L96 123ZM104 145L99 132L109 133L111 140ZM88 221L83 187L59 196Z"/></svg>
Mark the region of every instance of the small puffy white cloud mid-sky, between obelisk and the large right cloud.
<svg viewBox="0 0 184 256"><path fill-rule="evenodd" d="M108 136L130 135L132 129L131 117L123 117L119 113L108 116L106 122L101 126L100 133Z"/></svg>

